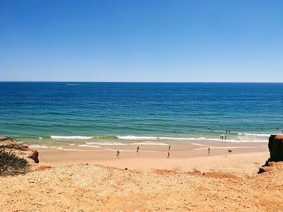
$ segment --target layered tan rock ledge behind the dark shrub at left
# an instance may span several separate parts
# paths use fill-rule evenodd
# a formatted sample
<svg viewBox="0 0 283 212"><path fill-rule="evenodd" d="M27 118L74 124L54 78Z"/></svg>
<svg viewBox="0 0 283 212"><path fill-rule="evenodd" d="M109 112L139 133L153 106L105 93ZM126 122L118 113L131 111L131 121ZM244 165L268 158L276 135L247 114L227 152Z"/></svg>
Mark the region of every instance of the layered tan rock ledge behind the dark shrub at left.
<svg viewBox="0 0 283 212"><path fill-rule="evenodd" d="M28 148L28 145L9 137L0 136L0 150L13 153L18 158L24 158L28 161L29 165L39 163L37 150Z"/></svg>

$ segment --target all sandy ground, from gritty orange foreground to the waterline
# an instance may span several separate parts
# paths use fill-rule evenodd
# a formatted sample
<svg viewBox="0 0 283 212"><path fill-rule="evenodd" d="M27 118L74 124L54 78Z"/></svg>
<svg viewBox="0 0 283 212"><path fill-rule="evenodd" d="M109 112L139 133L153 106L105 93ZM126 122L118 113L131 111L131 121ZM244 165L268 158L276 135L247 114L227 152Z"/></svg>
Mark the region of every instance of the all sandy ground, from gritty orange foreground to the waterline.
<svg viewBox="0 0 283 212"><path fill-rule="evenodd" d="M282 211L283 164L257 174L266 146L118 148L40 149L37 172L1 177L0 211Z"/></svg>

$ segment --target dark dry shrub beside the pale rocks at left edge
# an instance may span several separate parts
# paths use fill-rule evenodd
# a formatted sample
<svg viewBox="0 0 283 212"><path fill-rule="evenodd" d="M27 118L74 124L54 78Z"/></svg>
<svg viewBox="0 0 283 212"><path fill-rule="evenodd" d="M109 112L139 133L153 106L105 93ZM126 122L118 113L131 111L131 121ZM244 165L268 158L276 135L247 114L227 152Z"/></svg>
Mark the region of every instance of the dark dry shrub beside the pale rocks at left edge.
<svg viewBox="0 0 283 212"><path fill-rule="evenodd" d="M27 171L27 160L0 149L0 175L18 175Z"/></svg>

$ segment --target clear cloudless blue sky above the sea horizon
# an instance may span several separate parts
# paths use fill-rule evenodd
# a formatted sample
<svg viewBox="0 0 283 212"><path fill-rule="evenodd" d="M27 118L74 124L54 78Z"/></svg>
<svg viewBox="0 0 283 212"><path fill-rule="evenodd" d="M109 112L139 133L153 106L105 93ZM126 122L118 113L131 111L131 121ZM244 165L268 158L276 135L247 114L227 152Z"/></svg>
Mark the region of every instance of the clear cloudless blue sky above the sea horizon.
<svg viewBox="0 0 283 212"><path fill-rule="evenodd" d="M283 81L283 1L0 1L0 81Z"/></svg>

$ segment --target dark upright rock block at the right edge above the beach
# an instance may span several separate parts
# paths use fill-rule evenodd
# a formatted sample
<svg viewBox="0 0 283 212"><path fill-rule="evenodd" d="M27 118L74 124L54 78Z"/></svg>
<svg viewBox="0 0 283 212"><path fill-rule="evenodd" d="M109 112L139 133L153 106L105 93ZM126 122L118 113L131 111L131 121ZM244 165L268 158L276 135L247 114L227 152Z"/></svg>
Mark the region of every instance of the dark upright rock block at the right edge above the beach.
<svg viewBox="0 0 283 212"><path fill-rule="evenodd" d="M283 161L283 135L272 135L268 142L269 161Z"/></svg>

